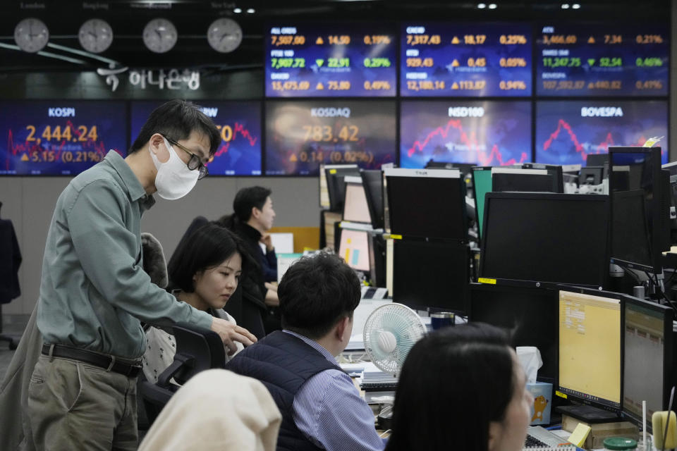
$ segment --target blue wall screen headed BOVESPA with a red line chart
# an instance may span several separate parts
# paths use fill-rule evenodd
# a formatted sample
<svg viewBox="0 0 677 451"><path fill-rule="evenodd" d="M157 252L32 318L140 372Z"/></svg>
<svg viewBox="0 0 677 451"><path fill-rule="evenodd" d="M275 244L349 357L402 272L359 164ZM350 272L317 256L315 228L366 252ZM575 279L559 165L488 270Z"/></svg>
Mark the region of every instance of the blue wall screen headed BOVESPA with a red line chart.
<svg viewBox="0 0 677 451"><path fill-rule="evenodd" d="M539 101L536 161L583 164L609 146L641 146L650 137L668 162L667 101Z"/></svg>

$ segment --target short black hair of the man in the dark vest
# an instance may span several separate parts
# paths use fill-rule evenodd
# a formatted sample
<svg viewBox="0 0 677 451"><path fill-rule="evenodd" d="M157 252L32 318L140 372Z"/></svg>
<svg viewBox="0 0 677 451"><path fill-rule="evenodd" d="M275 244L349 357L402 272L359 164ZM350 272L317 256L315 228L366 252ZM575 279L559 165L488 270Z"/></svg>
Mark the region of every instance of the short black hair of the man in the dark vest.
<svg viewBox="0 0 677 451"><path fill-rule="evenodd" d="M277 288L282 328L322 338L338 321L352 318L360 291L355 271L338 256L320 252L302 257L288 268Z"/></svg>

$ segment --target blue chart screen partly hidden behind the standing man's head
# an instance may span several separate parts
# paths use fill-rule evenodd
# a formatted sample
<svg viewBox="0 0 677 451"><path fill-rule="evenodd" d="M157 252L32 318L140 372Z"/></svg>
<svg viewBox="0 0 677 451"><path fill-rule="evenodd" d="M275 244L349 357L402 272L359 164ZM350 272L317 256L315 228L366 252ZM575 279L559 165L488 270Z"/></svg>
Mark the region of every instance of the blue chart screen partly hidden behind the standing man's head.
<svg viewBox="0 0 677 451"><path fill-rule="evenodd" d="M132 141L161 101L132 103ZM259 101L200 101L202 112L221 132L221 144L207 163L209 175L261 174L261 103Z"/></svg>

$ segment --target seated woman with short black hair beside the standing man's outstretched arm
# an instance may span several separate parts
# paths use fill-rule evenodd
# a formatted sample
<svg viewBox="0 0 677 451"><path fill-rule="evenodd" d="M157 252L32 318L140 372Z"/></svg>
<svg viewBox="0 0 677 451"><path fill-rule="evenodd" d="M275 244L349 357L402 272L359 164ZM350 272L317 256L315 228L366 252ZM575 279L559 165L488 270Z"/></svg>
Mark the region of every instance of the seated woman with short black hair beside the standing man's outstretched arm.
<svg viewBox="0 0 677 451"><path fill-rule="evenodd" d="M236 323L224 311L224 306L238 288L243 273L243 250L240 239L229 230L207 223L181 240L172 254L167 272L169 291L176 299L217 318ZM176 340L166 330L150 327L146 330L146 351L143 372L148 381L157 383L158 376L173 362ZM235 352L243 350L236 342ZM226 349L226 362L228 354Z"/></svg>

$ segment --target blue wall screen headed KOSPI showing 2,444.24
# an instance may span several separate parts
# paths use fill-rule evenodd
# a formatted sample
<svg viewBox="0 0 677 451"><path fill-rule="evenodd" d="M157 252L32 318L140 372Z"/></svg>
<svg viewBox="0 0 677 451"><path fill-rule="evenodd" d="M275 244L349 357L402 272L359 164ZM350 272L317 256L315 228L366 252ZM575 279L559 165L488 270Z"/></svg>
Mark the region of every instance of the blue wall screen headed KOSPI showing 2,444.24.
<svg viewBox="0 0 677 451"><path fill-rule="evenodd" d="M0 102L0 174L77 175L127 150L123 101Z"/></svg>

